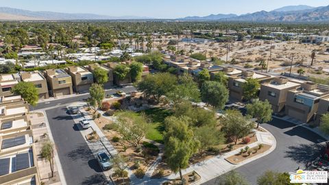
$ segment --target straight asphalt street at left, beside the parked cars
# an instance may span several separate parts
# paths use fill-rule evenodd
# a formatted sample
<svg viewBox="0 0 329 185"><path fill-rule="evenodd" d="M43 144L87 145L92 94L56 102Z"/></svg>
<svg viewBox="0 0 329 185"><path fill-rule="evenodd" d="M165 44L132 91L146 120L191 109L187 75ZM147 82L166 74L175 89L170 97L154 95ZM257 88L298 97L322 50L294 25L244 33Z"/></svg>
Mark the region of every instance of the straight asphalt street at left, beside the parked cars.
<svg viewBox="0 0 329 185"><path fill-rule="evenodd" d="M73 117L66 108L47 110L47 118L67 184L107 182Z"/></svg>

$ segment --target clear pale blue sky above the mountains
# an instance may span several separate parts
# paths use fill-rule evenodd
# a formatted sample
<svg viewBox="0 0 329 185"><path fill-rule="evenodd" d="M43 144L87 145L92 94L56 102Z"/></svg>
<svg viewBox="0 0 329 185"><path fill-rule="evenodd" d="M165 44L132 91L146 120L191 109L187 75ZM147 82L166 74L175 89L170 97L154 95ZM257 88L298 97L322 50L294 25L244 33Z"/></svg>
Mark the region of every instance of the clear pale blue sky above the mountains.
<svg viewBox="0 0 329 185"><path fill-rule="evenodd" d="M327 0L0 0L0 6L25 10L93 13L109 16L178 18L208 14L245 14L286 5L329 5Z"/></svg>

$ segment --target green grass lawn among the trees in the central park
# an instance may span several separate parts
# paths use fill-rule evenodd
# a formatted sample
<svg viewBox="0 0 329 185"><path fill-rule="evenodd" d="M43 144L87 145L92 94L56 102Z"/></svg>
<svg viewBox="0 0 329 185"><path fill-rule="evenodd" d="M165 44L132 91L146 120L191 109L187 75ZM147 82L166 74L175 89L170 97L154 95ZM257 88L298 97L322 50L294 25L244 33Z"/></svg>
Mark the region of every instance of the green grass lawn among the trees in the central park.
<svg viewBox="0 0 329 185"><path fill-rule="evenodd" d="M151 108L141 112L144 112L151 120L146 138L154 140L157 143L163 143L162 132L164 131L164 119L166 119L167 116L171 116L171 111L162 108Z"/></svg>

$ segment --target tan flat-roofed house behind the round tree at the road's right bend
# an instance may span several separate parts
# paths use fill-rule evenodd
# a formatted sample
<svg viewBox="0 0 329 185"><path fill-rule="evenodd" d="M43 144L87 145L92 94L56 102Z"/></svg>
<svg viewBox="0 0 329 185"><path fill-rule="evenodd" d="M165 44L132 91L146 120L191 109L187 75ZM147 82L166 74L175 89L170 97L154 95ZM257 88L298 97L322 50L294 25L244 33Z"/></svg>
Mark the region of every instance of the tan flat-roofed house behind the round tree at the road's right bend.
<svg viewBox="0 0 329 185"><path fill-rule="evenodd" d="M300 88L300 83L290 82L285 77L275 77L271 82L260 85L259 99L267 99L271 103L273 112L278 113L284 109L289 90Z"/></svg>

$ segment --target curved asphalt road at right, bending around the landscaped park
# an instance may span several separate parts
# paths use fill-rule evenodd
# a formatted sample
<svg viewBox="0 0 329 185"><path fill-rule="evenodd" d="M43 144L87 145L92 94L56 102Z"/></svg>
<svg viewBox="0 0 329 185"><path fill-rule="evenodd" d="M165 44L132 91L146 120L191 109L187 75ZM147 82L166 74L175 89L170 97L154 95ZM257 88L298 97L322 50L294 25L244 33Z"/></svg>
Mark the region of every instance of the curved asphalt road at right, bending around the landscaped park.
<svg viewBox="0 0 329 185"><path fill-rule="evenodd" d="M267 156L236 169L250 184L257 184L257 177L267 170L293 172L298 167L304 169L306 162L319 155L321 146L317 143L325 140L304 127L279 119L261 126L276 137L277 145ZM218 184L220 179L221 176L204 184Z"/></svg>

